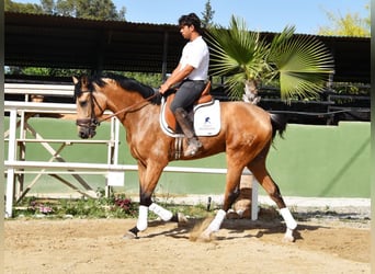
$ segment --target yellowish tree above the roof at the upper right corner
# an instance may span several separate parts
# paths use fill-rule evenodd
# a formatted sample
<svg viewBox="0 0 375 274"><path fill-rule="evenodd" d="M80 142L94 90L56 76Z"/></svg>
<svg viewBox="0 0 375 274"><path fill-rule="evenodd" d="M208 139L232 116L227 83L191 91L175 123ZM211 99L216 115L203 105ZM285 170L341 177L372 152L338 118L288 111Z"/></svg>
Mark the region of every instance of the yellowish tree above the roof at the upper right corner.
<svg viewBox="0 0 375 274"><path fill-rule="evenodd" d="M328 19L332 22L332 26L319 27L320 35L339 35L339 36L371 36L371 15L370 5L365 9L368 11L368 16L363 19L359 13L346 13L345 15L326 12Z"/></svg>

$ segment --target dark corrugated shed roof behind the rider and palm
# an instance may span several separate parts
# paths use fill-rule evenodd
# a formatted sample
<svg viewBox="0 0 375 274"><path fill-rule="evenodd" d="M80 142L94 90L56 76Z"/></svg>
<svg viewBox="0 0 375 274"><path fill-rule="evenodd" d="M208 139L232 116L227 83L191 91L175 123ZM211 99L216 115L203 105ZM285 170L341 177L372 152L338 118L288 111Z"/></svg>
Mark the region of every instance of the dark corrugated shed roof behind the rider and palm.
<svg viewBox="0 0 375 274"><path fill-rule="evenodd" d="M370 38L318 38L333 55L334 81L370 82ZM177 25L4 13L5 66L166 73L184 44Z"/></svg>

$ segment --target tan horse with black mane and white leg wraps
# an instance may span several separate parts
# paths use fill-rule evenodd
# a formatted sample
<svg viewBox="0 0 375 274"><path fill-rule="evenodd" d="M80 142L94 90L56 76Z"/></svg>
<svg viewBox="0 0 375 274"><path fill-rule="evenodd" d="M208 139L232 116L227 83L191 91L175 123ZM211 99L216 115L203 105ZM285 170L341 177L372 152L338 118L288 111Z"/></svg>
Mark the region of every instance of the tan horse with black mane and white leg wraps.
<svg viewBox="0 0 375 274"><path fill-rule="evenodd" d="M160 94L156 89L118 75L72 77L77 105L76 124L81 138L92 138L96 126L109 110L126 129L126 141L137 161L139 176L139 207L136 225L125 238L139 238L138 232L148 227L148 210L163 221L186 221L181 214L172 214L152 201L159 178L170 161L177 160L174 138L160 127ZM209 239L220 229L227 212L239 194L242 170L248 168L257 181L275 202L286 226L284 241L294 241L297 222L271 178L265 160L275 135L283 136L287 122L281 115L239 101L219 102L221 127L217 135L200 137L203 145L200 153L179 160L194 160L226 152L227 174L224 203L209 225L201 233ZM183 147L186 147L186 141Z"/></svg>

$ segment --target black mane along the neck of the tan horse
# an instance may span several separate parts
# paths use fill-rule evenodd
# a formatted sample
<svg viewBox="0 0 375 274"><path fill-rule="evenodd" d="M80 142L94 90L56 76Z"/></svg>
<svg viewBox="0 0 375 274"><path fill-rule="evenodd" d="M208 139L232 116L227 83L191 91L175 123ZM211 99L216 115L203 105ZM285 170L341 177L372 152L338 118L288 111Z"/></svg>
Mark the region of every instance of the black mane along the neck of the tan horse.
<svg viewBox="0 0 375 274"><path fill-rule="evenodd" d="M125 89L127 91L138 92L145 99L150 98L151 95L154 95L156 93L156 90L152 89L151 87L146 85L146 84L135 80L134 78L127 78L125 76L121 76L121 75L116 75L116 73L103 73L103 75L96 75L96 76L89 77L89 88L91 85L92 90L93 90L92 83L95 83L99 87L104 87L105 84L107 84L103 80L104 78L109 78L109 79L114 80L117 84L120 84L120 87L122 87L123 89ZM160 96L155 96L152 100L150 100L150 102L154 104L160 104Z"/></svg>

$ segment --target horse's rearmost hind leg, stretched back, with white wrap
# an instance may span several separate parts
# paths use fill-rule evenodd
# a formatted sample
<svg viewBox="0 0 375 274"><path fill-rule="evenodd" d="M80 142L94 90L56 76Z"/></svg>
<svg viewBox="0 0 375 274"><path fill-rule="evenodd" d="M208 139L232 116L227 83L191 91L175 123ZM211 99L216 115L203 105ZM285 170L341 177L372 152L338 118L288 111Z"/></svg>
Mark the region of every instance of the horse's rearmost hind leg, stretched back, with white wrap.
<svg viewBox="0 0 375 274"><path fill-rule="evenodd" d="M257 181L263 186L270 197L276 203L280 214L286 224L285 241L294 241L293 231L297 227L297 222L293 218L289 209L281 195L277 184L273 181L265 168L265 155L258 156L249 165Z"/></svg>

